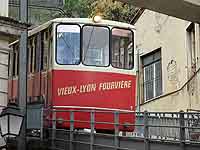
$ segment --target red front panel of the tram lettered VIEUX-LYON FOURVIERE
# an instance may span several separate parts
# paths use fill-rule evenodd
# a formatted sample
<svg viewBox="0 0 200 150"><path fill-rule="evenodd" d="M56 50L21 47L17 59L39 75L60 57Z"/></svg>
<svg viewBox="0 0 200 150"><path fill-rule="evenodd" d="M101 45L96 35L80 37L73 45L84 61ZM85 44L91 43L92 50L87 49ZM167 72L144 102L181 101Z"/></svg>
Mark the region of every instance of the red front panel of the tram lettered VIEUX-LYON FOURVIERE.
<svg viewBox="0 0 200 150"><path fill-rule="evenodd" d="M53 71L53 106L72 109L107 109L107 113L96 113L96 122L114 122L113 111L135 109L135 82L133 75L89 71ZM80 107L80 108L79 108ZM57 113L57 118L69 120L69 113ZM89 113L75 113L75 120L90 121ZM121 114L122 124L133 124L133 113ZM69 126L65 123L64 126ZM113 125L96 124L96 129L113 129ZM75 128L90 128L89 123L75 123ZM133 127L120 130L133 130Z"/></svg>

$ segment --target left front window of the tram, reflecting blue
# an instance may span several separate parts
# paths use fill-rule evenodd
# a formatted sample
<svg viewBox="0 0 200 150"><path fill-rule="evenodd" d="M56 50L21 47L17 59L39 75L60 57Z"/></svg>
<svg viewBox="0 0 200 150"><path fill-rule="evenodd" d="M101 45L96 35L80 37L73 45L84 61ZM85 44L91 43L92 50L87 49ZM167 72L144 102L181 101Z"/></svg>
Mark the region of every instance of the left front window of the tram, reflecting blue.
<svg viewBox="0 0 200 150"><path fill-rule="evenodd" d="M78 25L57 26L58 64L73 65L80 62L80 27Z"/></svg>

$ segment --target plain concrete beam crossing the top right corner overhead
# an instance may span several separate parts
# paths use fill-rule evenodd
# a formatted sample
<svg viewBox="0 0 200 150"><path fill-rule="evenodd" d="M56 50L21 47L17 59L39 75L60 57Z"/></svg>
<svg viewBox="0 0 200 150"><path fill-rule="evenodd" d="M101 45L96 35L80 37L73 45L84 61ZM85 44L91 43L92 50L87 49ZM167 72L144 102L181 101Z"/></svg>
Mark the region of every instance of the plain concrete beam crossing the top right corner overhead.
<svg viewBox="0 0 200 150"><path fill-rule="evenodd" d="M136 7L200 23L200 0L118 0Z"/></svg>

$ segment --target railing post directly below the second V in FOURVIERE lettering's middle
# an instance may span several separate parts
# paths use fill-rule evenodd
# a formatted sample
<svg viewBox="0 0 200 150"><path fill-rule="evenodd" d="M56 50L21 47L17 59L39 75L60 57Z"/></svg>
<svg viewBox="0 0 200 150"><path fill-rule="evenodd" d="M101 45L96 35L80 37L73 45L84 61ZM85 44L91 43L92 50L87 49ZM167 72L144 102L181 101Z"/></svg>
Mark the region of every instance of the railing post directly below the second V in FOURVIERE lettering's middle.
<svg viewBox="0 0 200 150"><path fill-rule="evenodd" d="M118 150L119 148L119 112L114 112L114 121L115 121L115 149Z"/></svg>

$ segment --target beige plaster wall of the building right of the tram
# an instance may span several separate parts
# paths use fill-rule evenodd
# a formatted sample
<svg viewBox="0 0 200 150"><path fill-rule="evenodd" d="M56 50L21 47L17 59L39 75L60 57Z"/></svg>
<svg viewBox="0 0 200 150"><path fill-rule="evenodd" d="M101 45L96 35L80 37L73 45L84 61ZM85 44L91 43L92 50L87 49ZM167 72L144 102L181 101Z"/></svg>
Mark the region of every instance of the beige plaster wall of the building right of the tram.
<svg viewBox="0 0 200 150"><path fill-rule="evenodd" d="M136 22L136 48L140 56L161 48L162 63L162 95L144 102L143 83L140 83L141 111L200 110L200 75L198 72L191 73L187 32L190 24L150 10L145 10ZM200 66L200 30L197 24L195 31L197 71ZM140 65L140 81L142 80Z"/></svg>

